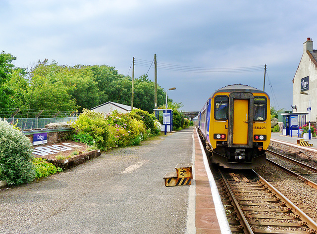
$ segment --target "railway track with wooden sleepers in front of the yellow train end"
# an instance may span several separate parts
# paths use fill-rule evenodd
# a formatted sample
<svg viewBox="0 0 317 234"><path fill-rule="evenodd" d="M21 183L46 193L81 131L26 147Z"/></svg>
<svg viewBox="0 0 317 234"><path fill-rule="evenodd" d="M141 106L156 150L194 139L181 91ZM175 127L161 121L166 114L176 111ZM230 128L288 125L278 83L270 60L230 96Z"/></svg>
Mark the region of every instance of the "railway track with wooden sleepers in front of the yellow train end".
<svg viewBox="0 0 317 234"><path fill-rule="evenodd" d="M317 224L255 171L219 170L219 193L234 234L309 234ZM289 195L289 194L288 194Z"/></svg>

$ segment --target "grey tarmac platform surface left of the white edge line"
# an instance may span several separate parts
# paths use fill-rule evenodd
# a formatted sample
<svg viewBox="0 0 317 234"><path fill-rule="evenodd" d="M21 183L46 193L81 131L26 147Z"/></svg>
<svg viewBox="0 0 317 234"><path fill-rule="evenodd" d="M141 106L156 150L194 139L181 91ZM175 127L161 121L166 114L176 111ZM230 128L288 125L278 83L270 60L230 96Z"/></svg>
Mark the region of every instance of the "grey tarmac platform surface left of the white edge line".
<svg viewBox="0 0 317 234"><path fill-rule="evenodd" d="M180 234L189 186L163 176L192 158L192 128L103 153L73 169L0 191L1 234Z"/></svg>

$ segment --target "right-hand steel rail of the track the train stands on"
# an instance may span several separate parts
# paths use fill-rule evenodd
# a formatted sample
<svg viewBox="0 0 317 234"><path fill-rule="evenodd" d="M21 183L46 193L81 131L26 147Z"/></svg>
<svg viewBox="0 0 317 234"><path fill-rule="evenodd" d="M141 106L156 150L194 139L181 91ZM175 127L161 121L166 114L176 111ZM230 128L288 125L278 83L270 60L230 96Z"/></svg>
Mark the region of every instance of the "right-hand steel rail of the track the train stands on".
<svg viewBox="0 0 317 234"><path fill-rule="evenodd" d="M254 170L253 170L254 171ZM254 171L254 173L256 173ZM316 233L317 232L317 223L314 222L307 214L305 214L301 209L299 209L293 202L291 202L287 197L285 197L282 193L280 193L275 187L270 185L267 181L264 180L258 173L256 175L259 177L260 181L271 190L276 197L278 197L282 202L285 203L287 207L289 207L294 214L296 214L303 222L306 223L306 226L310 228L309 232Z"/></svg>

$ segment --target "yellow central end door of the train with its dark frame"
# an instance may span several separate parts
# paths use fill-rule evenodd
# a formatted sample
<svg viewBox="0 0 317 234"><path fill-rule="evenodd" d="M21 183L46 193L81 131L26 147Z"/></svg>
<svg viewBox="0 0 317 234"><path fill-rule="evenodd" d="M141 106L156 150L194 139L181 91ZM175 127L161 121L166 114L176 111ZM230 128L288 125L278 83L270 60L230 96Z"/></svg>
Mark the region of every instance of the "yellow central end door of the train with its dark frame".
<svg viewBox="0 0 317 234"><path fill-rule="evenodd" d="M253 94L233 92L229 95L229 130L230 147L253 147Z"/></svg>

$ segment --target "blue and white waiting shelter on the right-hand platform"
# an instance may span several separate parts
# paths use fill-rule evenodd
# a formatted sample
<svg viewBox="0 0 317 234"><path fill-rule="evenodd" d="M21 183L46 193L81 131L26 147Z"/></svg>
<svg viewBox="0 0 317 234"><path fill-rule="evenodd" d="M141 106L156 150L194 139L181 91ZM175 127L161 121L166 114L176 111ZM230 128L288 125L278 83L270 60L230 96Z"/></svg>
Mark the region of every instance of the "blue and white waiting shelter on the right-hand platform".
<svg viewBox="0 0 317 234"><path fill-rule="evenodd" d="M300 137L302 134L300 126L306 124L308 113L281 113L283 116L283 136Z"/></svg>

